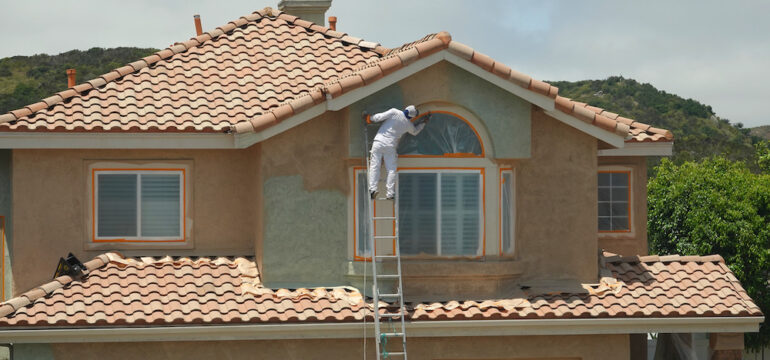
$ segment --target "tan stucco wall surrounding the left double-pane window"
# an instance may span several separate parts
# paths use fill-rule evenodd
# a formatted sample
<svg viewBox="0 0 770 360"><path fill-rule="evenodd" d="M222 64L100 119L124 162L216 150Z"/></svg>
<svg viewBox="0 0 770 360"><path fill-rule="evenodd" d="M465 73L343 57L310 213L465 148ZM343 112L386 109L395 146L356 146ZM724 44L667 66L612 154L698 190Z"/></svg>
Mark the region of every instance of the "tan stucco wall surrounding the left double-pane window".
<svg viewBox="0 0 770 360"><path fill-rule="evenodd" d="M61 256L86 250L90 160L192 162L192 249L135 249L127 255L254 255L257 148L246 150L14 150L14 291L48 281ZM189 220L188 220L189 221ZM45 249L45 251L40 251Z"/></svg>

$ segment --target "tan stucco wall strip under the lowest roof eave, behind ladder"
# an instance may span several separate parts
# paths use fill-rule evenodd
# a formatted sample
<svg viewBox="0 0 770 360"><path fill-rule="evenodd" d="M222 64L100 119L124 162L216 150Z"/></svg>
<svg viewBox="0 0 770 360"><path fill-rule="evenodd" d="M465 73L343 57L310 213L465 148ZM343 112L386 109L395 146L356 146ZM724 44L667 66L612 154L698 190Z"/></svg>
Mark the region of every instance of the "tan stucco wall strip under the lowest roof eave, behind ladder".
<svg viewBox="0 0 770 360"><path fill-rule="evenodd" d="M628 335L409 338L410 359L629 359ZM375 359L374 344L367 358ZM102 359L351 359L361 339L53 344L59 360Z"/></svg>

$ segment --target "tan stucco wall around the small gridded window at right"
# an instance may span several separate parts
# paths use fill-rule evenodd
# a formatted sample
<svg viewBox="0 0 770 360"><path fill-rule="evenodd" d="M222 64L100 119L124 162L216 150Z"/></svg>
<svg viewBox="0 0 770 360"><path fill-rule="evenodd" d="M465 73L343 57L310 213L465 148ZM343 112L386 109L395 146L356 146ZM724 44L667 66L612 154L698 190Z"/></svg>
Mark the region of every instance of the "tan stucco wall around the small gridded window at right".
<svg viewBox="0 0 770 360"><path fill-rule="evenodd" d="M631 233L599 233L599 248L621 255L647 255L647 158L599 157L599 167L631 169Z"/></svg>

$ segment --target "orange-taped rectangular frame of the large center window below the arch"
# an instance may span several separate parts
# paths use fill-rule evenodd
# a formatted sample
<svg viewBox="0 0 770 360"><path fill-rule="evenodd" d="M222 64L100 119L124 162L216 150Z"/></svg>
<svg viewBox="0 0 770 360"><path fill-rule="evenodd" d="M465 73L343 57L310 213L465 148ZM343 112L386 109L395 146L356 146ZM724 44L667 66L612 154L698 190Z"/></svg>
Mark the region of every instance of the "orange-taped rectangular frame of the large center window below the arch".
<svg viewBox="0 0 770 360"><path fill-rule="evenodd" d="M360 173L365 173L365 168L362 166L355 166L353 167L353 260L355 261L370 261L371 256L367 256L367 254L360 254L358 252L359 242L362 239L359 239L358 234L358 227L359 222L362 220L358 216L358 206L359 206L359 197L358 197L358 176ZM428 174L438 174L438 173L476 173L479 174L479 242L478 242L478 249L480 251L477 251L476 254L473 255L443 255L441 254L441 212L437 211L436 216L438 217L436 226L439 227L437 229L437 251L436 254L413 254L413 255L405 255L402 254L402 257L410 258L410 257L435 257L435 258L470 258L470 259L479 259L486 255L486 168L483 167L399 167L398 173L428 173ZM436 191L439 192L441 189L440 186L440 180L437 181L437 189ZM399 182L396 182L396 194L399 193ZM438 201L438 206L440 207L441 202L440 199ZM374 255L377 255L377 249L373 249ZM394 242L394 253L395 253L395 242ZM371 254L370 254L371 255Z"/></svg>

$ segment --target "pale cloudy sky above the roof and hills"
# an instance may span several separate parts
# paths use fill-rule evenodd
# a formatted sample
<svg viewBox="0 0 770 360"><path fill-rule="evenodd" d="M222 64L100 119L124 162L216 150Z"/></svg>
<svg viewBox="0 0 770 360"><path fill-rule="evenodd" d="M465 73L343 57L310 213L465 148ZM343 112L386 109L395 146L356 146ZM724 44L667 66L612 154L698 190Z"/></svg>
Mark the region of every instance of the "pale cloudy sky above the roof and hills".
<svg viewBox="0 0 770 360"><path fill-rule="evenodd" d="M0 58L163 48L279 0L0 0ZM622 75L770 125L770 1L333 0L337 29L386 47L446 30L542 80ZM610 109L611 110L611 109Z"/></svg>

